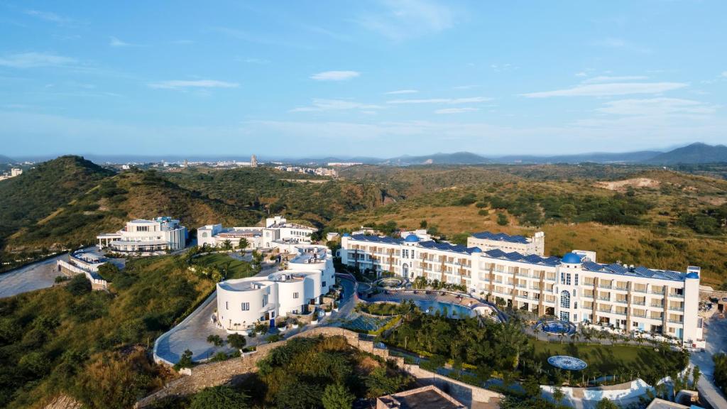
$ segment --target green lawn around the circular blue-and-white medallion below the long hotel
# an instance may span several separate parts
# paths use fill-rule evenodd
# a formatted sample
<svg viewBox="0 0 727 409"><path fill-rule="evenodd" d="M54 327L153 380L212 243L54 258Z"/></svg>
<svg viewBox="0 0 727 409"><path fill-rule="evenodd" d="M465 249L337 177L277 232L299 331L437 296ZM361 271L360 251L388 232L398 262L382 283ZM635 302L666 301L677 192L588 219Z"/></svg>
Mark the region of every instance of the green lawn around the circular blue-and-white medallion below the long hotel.
<svg viewBox="0 0 727 409"><path fill-rule="evenodd" d="M617 375L619 378L638 374L649 384L664 376L678 373L686 367L688 355L678 351L659 349L653 346L602 346L584 344L560 344L545 341L532 341L536 360L542 363L542 368L551 370L553 367L547 363L547 358L553 355L569 355L584 360L588 364L583 372L586 376L601 377ZM572 376L580 377L577 371Z"/></svg>

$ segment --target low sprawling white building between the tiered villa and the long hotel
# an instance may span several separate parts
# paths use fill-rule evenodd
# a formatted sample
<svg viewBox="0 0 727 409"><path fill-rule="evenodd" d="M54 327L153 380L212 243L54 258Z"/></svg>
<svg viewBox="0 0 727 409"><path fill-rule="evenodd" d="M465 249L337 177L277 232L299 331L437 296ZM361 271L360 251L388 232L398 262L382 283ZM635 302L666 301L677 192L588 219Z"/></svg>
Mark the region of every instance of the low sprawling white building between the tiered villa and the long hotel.
<svg viewBox="0 0 727 409"><path fill-rule="evenodd" d="M282 216L265 219L264 227L228 227L222 224L208 224L197 229L197 244L217 247L227 240L238 247L240 239L247 240L252 248L276 247L276 244L310 243L310 235L318 229L297 223L288 223Z"/></svg>

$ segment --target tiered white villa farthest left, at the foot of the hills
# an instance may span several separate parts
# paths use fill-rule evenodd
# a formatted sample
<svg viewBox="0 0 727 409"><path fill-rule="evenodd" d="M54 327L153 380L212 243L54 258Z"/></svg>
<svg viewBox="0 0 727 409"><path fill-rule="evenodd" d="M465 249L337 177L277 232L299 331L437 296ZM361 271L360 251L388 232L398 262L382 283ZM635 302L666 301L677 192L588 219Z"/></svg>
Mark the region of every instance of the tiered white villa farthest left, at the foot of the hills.
<svg viewBox="0 0 727 409"><path fill-rule="evenodd" d="M126 223L116 233L99 234L98 247L110 247L119 253L158 253L180 250L187 242L187 228L169 217L137 219Z"/></svg>

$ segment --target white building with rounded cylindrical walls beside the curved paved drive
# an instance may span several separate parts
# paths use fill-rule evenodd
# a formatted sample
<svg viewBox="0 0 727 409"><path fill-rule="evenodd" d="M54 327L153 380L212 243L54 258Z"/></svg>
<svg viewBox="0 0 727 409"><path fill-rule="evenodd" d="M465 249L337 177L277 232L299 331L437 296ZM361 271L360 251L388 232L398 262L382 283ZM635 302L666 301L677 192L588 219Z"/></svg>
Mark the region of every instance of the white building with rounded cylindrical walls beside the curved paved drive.
<svg viewBox="0 0 727 409"><path fill-rule="evenodd" d="M298 245L297 251L284 271L217 283L217 325L233 333L312 312L335 284L332 256L320 245Z"/></svg>

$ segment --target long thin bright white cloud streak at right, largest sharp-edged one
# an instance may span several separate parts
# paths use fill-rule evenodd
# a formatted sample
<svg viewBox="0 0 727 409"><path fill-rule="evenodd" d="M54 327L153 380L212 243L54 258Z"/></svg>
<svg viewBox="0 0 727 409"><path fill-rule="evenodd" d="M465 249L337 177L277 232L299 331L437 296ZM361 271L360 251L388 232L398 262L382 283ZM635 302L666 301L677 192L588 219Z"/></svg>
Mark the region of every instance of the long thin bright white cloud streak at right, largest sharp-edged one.
<svg viewBox="0 0 727 409"><path fill-rule="evenodd" d="M527 98L548 97L606 97L610 95L659 94L686 87L681 82L616 82L612 84L585 84L566 90L529 92Z"/></svg>

